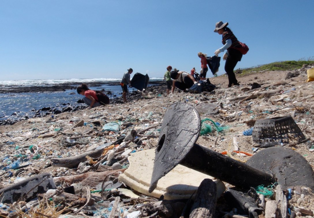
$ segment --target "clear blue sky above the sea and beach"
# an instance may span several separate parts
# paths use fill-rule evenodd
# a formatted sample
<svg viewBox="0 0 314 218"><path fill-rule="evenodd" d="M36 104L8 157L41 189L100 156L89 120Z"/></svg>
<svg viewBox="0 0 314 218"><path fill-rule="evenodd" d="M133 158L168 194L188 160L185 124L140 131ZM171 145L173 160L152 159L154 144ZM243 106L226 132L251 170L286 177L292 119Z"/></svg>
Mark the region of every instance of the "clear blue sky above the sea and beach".
<svg viewBox="0 0 314 218"><path fill-rule="evenodd" d="M199 72L197 53L222 46L220 20L250 48L236 69L307 60L313 8L313 0L0 0L0 80L120 78L130 67L152 78L168 65Z"/></svg>

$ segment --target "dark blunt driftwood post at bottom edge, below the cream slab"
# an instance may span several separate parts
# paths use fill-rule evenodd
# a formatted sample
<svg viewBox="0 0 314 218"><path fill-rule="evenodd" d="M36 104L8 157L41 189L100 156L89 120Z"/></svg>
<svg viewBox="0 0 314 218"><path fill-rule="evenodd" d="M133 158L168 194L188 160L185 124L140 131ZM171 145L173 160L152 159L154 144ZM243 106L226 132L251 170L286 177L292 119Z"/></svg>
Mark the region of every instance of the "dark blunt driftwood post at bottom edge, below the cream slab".
<svg viewBox="0 0 314 218"><path fill-rule="evenodd" d="M216 208L216 183L211 179L204 179L195 196L194 204L191 208L190 218L212 218Z"/></svg>

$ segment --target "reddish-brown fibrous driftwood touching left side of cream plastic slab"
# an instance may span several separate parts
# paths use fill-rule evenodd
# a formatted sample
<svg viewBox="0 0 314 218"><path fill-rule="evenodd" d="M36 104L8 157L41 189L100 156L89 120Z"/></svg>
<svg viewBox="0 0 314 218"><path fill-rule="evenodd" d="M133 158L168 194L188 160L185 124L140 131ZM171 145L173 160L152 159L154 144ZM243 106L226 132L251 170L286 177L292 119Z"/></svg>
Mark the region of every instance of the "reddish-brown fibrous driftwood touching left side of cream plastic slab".
<svg viewBox="0 0 314 218"><path fill-rule="evenodd" d="M106 177L110 173L114 173L114 176L119 176L119 172L124 172L126 169L120 169L120 170L108 170L105 172L87 172L84 174L77 174L72 176L62 176L62 177L55 177L53 180L56 184L61 184L62 182L66 182L69 184L72 183L78 183L82 184L83 186L90 186L97 185L98 183L102 182L104 180L104 177Z"/></svg>

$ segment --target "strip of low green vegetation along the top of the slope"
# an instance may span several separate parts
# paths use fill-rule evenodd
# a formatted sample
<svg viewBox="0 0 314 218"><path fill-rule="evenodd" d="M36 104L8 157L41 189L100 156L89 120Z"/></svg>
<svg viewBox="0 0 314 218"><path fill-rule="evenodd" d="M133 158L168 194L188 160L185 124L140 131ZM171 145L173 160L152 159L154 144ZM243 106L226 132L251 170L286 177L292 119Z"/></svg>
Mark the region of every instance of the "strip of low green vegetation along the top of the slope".
<svg viewBox="0 0 314 218"><path fill-rule="evenodd" d="M247 73L255 73L261 71L283 71L283 70L297 70L302 68L305 65L314 65L314 57L308 60L297 60L297 61L278 61L270 64L262 64L249 68L242 68L235 71L235 73L242 73L245 75Z"/></svg>

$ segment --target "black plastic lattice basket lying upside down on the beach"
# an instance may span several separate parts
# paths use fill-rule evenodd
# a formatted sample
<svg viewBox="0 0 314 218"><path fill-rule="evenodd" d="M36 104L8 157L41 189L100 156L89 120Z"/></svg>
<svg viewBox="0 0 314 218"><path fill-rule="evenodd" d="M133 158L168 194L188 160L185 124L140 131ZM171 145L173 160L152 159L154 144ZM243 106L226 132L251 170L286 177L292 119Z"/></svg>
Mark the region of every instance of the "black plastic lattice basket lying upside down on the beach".
<svg viewBox="0 0 314 218"><path fill-rule="evenodd" d="M252 131L253 142L263 146L295 143L305 140L305 136L291 116L256 120Z"/></svg>

